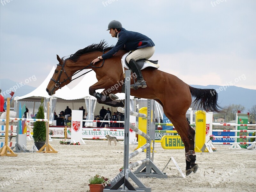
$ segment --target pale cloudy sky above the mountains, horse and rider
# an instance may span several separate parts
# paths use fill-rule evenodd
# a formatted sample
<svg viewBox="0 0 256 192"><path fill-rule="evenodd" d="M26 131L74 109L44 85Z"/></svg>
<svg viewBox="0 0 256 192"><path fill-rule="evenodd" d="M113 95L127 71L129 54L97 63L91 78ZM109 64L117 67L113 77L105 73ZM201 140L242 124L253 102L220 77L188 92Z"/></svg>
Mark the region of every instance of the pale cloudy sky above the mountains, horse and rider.
<svg viewBox="0 0 256 192"><path fill-rule="evenodd" d="M1 0L0 78L36 87L56 54L116 44L106 29L119 20L154 41L159 70L187 84L256 89L255 10L254 0Z"/></svg>

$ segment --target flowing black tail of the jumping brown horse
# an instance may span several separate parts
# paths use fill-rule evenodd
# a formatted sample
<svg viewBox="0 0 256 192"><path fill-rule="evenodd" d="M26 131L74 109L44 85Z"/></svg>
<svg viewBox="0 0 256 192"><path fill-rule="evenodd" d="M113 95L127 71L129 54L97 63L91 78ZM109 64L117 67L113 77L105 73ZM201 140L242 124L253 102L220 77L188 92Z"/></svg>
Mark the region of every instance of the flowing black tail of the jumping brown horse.
<svg viewBox="0 0 256 192"><path fill-rule="evenodd" d="M189 86L195 108L201 108L206 112L221 113L222 108L217 103L218 94L214 89L198 89Z"/></svg>

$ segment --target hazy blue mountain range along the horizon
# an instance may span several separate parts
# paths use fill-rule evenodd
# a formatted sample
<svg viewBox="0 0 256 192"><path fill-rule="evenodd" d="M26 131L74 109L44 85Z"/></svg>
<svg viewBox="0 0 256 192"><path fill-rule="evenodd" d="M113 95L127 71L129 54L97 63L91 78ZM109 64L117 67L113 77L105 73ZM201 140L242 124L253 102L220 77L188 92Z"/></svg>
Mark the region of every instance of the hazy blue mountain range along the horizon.
<svg viewBox="0 0 256 192"><path fill-rule="evenodd" d="M7 98L10 96L7 90L9 92L11 91L15 92L14 96L23 96L36 89L36 87L32 87L29 85L20 86L18 82L14 82L10 79L0 79L0 86L1 86L2 95L4 96L4 98ZM230 104L231 105L236 104L236 105L242 105L246 108L246 110L249 110L253 105L256 105L256 90L254 89L246 89L246 88L236 87L236 86L228 86L227 88L225 88L224 86L220 86L220 85L207 85L207 86L190 85L190 86L200 88L200 89L215 89L216 92L218 93L218 103L220 104L221 107L228 106ZM244 111L244 112L248 112L248 111Z"/></svg>

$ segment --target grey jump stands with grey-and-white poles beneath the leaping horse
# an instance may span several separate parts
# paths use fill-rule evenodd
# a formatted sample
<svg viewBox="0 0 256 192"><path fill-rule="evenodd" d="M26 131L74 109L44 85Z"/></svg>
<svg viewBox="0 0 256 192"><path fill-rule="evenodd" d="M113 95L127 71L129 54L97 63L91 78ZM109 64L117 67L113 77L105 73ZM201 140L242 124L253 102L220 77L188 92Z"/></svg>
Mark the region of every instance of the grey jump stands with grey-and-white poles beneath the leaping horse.
<svg viewBox="0 0 256 192"><path fill-rule="evenodd" d="M125 76L128 77L125 78L125 108L124 109L119 109L118 111L128 111L130 108L130 76L131 71L126 70L125 71ZM135 115L135 116L143 116L144 118L148 117L147 119L147 134L141 132L138 128L132 126L130 124L130 114ZM103 192L114 192L114 191L119 191L119 192L130 192L130 191L139 191L139 192L151 192L151 188L147 188L143 183L140 182L138 177L157 177L157 178L167 178L167 175L161 172L156 165L153 163L151 160L150 156L150 145L152 138L150 138L150 135L152 132L150 132L151 128L155 129L155 126L152 122L151 116L151 102L148 100L148 114L147 116L145 114L139 114L135 112L130 112L130 113L124 113L124 169L116 175L116 177L111 180L110 186L111 187L105 187L103 189ZM137 149L136 151L132 152L129 154L129 130L133 129L133 131L137 132L141 136L143 135L147 139L147 143L142 146L141 148ZM155 134L155 132L154 132ZM138 155L140 152L144 151L146 148L146 158L140 161L137 161L135 163L129 164L129 159L132 157ZM134 173L130 171L132 167L140 166ZM146 168L143 170L143 172L140 172L141 169L143 169L146 166ZM154 172L152 172L154 171ZM132 183L128 180L128 178L131 178L138 187L134 187ZM122 186L122 187L121 187Z"/></svg>

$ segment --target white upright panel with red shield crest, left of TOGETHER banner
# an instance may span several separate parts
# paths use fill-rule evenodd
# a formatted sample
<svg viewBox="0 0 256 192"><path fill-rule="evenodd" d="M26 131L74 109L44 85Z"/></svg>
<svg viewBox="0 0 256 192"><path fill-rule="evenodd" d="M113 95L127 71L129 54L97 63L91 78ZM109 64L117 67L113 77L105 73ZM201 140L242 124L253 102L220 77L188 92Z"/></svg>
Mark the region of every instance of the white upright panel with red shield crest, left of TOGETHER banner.
<svg viewBox="0 0 256 192"><path fill-rule="evenodd" d="M71 121L71 142L81 142L82 139L82 125L83 125L83 111L72 110Z"/></svg>

